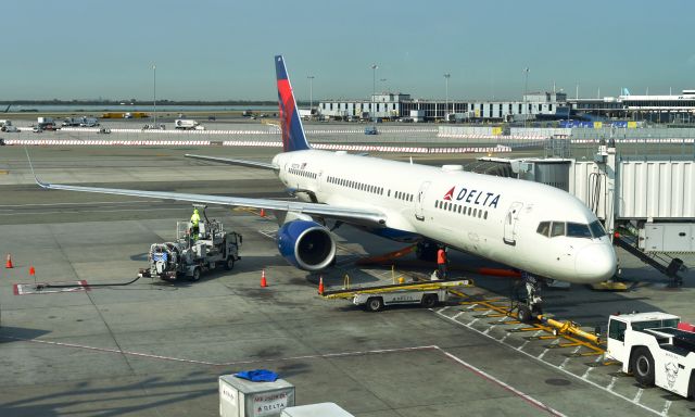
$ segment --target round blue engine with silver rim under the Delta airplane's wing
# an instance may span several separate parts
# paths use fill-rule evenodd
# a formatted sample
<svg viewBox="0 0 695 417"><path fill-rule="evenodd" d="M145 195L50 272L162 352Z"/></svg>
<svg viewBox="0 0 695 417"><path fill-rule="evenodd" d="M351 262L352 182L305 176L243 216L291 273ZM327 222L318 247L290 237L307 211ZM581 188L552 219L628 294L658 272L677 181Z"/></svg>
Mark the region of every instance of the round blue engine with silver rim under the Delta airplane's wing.
<svg viewBox="0 0 695 417"><path fill-rule="evenodd" d="M278 230L278 250L292 265L320 270L336 258L336 242L328 229L316 222L292 220Z"/></svg>

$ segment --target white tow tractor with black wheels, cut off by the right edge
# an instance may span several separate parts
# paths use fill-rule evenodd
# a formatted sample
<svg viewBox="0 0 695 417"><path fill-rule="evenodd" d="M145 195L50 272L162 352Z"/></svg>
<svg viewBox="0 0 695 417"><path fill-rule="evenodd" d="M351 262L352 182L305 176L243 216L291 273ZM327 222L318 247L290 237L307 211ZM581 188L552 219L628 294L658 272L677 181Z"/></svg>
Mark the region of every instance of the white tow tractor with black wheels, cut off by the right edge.
<svg viewBox="0 0 695 417"><path fill-rule="evenodd" d="M695 331L672 314L616 314L608 320L606 357L622 363L645 387L695 395Z"/></svg>

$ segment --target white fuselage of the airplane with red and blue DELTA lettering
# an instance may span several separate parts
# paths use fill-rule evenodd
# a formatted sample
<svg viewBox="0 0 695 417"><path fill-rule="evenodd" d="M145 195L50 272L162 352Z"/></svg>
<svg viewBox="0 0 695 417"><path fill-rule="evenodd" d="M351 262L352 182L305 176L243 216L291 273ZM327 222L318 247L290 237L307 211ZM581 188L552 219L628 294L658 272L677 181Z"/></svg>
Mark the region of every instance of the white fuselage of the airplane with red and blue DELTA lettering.
<svg viewBox="0 0 695 417"><path fill-rule="evenodd" d="M544 222L580 230L597 222L580 200L549 186L317 150L281 153L273 162L280 180L302 200L382 212L384 227L371 230L380 236L425 237L569 282L603 281L616 270L605 232L539 232Z"/></svg>

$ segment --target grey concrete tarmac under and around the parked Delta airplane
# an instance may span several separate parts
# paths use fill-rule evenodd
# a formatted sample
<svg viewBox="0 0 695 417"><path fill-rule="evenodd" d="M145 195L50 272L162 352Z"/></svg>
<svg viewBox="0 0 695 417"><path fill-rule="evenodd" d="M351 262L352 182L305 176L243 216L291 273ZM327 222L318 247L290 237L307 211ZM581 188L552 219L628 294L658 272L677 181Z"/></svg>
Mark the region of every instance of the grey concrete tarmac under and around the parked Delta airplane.
<svg viewBox="0 0 695 417"><path fill-rule="evenodd" d="M244 210L207 215L243 235L231 271L199 282L140 279L88 291L15 294L15 283L90 285L132 280L151 243L172 240L190 204L78 192L34 185L24 150L0 149L1 416L214 416L217 378L267 368L296 387L296 402L334 402L355 416L686 416L695 403L643 389L583 345L539 340L493 317L479 300L501 300L510 282L464 274L469 296L432 309L403 306L367 313L317 295L318 276L288 265L271 239L277 224ZM274 149L31 147L50 182L224 195L287 195L271 173L215 165L184 153L267 161ZM406 157L390 155L389 157ZM446 156L451 163L452 156ZM472 157L467 155L466 157ZM418 160L416 159L416 162ZM428 156L427 163L441 162ZM350 227L337 230L338 267L328 287L387 282L429 270L357 268L353 261L402 244ZM617 311L661 309L695 321L693 271L666 280L619 251L630 290L598 293L572 286L545 291L546 311L583 328ZM464 254L452 261L483 264ZM694 265L686 258L686 264ZM29 276L29 267L36 277ZM265 269L269 286L260 287ZM433 269L433 267L432 267ZM534 338L536 337L536 338Z"/></svg>

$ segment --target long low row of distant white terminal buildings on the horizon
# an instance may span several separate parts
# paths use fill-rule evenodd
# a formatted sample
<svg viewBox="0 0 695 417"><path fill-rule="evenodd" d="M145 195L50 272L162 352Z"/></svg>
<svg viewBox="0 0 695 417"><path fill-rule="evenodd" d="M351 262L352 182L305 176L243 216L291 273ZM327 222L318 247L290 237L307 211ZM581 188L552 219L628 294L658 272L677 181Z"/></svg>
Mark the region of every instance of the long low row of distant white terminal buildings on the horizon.
<svg viewBox="0 0 695 417"><path fill-rule="evenodd" d="M402 92L370 100L324 100L316 113L332 119L382 118L402 122L523 122L627 119L695 123L695 90L681 94L568 99L563 91L529 92L521 101L424 100Z"/></svg>

